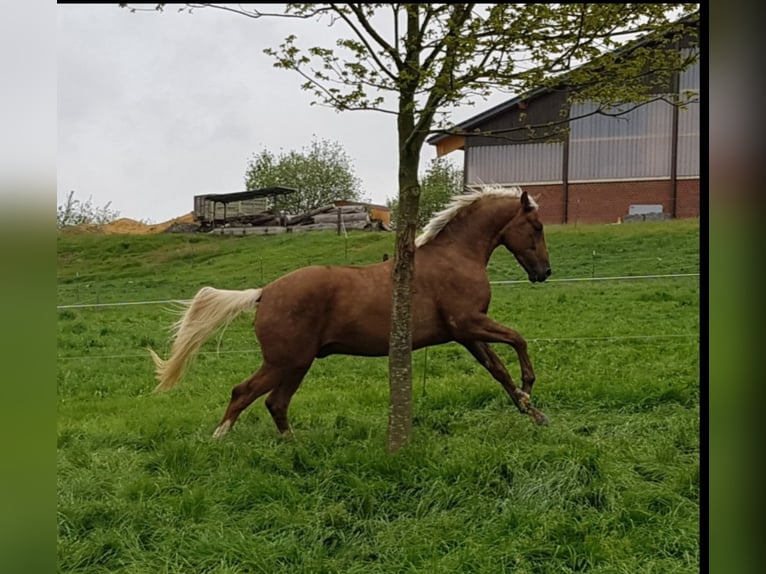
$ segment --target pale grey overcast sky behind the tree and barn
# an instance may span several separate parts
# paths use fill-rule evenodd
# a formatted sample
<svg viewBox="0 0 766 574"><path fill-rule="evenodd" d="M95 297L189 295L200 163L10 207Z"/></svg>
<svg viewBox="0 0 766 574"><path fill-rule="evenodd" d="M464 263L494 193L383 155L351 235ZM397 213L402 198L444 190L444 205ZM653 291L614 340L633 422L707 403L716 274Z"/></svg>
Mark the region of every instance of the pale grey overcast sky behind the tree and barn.
<svg viewBox="0 0 766 574"><path fill-rule="evenodd" d="M165 221L192 211L195 195L245 189L254 153L300 151L314 135L343 146L367 199L395 197L394 116L311 106L300 76L263 54L289 33L305 46L330 45L337 32L212 9L59 4L57 204L74 190L96 206L111 202L122 217ZM452 156L462 165L462 152ZM433 157L426 145L421 167Z"/></svg>

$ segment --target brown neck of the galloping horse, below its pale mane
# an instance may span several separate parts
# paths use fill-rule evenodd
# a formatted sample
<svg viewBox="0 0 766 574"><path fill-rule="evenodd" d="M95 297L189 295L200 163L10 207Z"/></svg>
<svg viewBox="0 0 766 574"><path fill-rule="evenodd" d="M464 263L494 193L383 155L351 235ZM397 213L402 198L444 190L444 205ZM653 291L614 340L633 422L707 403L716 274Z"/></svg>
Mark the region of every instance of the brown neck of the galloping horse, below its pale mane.
<svg viewBox="0 0 766 574"><path fill-rule="evenodd" d="M449 242L453 250L486 266L500 243L500 232L518 208L513 200L479 200L447 223L434 243Z"/></svg>

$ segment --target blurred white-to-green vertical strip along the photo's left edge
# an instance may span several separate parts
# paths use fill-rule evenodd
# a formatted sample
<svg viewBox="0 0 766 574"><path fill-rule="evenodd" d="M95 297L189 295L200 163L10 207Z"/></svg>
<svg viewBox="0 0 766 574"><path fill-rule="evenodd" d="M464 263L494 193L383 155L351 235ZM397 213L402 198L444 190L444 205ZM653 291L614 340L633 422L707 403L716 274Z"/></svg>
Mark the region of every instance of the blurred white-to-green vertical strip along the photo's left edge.
<svg viewBox="0 0 766 574"><path fill-rule="evenodd" d="M0 69L0 572L55 572L55 5L4 11Z"/></svg>

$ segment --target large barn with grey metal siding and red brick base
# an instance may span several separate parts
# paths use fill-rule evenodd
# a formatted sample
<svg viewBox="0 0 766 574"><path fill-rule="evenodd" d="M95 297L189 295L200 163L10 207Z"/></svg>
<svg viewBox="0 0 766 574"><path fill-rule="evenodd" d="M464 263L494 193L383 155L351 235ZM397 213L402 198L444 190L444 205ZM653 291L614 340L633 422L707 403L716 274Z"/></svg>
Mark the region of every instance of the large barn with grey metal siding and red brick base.
<svg viewBox="0 0 766 574"><path fill-rule="evenodd" d="M699 26L698 20L691 20ZM684 56L699 49L677 45ZM700 63L676 74L668 93L696 93L685 109L657 100L627 113L593 114L595 102L566 107L566 89L540 88L428 139L438 156L462 150L466 185L521 185L548 223L610 223L630 215L700 214ZM631 109L632 108L632 109ZM508 131L572 118L567 130ZM617 110L623 111L623 110ZM568 113L568 116L566 115ZM468 135L470 133L503 134ZM464 135L465 134L465 135Z"/></svg>

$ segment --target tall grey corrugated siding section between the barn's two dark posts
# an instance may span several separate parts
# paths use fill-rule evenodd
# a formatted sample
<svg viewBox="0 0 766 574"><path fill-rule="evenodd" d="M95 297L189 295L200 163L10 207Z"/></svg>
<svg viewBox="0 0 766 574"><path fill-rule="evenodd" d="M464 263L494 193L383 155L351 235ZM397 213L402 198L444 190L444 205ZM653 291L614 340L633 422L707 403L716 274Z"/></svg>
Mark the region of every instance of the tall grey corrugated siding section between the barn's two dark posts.
<svg viewBox="0 0 766 574"><path fill-rule="evenodd" d="M595 103L572 106L572 117ZM593 115L572 122L569 180L670 177L672 107L653 102L619 117Z"/></svg>

